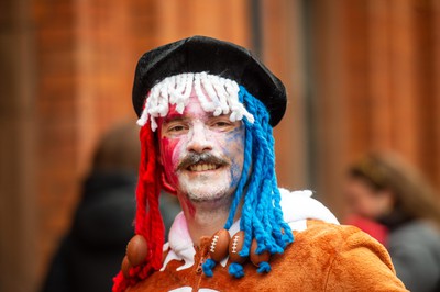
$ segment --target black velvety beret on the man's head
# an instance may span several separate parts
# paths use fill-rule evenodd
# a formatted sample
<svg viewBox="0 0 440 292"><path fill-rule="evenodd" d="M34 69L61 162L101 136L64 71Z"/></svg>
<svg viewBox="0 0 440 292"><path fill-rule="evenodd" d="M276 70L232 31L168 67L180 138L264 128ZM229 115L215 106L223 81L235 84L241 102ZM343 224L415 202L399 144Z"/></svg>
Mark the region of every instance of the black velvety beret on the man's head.
<svg viewBox="0 0 440 292"><path fill-rule="evenodd" d="M138 61L133 85L133 106L141 116L145 96L166 77L184 72L217 75L237 81L267 108L272 126L286 111L286 90L253 54L235 44L191 36L145 53Z"/></svg>

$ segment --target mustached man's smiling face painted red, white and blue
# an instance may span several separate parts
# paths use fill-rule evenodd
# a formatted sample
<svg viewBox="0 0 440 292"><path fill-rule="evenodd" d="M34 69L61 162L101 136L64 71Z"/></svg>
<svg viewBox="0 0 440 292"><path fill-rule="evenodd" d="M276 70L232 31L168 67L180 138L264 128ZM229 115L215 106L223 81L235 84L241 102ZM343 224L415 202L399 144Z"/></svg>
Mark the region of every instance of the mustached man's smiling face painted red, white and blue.
<svg viewBox="0 0 440 292"><path fill-rule="evenodd" d="M241 177L245 127L207 113L191 93L183 114L158 120L161 160L168 182L193 202L231 196Z"/></svg>

